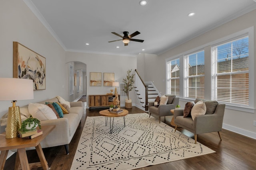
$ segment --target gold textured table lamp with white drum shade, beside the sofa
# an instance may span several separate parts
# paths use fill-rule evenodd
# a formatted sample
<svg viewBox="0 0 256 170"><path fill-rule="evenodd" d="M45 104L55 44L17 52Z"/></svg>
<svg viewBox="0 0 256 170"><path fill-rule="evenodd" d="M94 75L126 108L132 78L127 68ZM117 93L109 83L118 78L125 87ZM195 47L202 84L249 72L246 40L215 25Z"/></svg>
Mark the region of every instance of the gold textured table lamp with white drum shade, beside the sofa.
<svg viewBox="0 0 256 170"><path fill-rule="evenodd" d="M22 78L0 78L0 101L12 101L9 107L6 139L15 138L21 127L20 107L16 106L17 100L34 98L33 80Z"/></svg>

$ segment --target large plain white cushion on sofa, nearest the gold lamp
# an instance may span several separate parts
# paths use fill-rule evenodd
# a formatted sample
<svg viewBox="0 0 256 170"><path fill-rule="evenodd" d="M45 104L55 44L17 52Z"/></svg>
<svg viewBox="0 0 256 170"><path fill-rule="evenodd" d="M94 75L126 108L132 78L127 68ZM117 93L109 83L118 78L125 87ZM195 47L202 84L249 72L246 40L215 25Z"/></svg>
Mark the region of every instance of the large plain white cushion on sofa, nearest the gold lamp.
<svg viewBox="0 0 256 170"><path fill-rule="evenodd" d="M37 118L38 120L49 120L49 119L57 119L55 113L52 111L52 109L44 104L38 104L38 103L29 103L28 104L28 111L31 113L31 115L34 118Z"/></svg>

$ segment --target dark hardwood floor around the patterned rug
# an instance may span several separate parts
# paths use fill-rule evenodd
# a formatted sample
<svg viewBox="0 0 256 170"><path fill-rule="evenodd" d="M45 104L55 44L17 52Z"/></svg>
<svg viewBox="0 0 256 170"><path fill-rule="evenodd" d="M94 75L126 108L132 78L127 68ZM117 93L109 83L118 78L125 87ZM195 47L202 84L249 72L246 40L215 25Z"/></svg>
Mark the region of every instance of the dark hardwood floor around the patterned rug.
<svg viewBox="0 0 256 170"><path fill-rule="evenodd" d="M145 112L137 107L132 107L128 111L129 114ZM66 155L64 146L43 149L51 170L70 170L87 116L99 116L99 110L86 109L81 125L69 144L69 155ZM168 122L166 124L170 125ZM182 128L178 128L178 131L194 139L193 133ZM198 142L216 151L212 154L147 166L137 170L256 170L256 140L225 129L222 130L221 135L222 141L217 132L198 135ZM36 150L28 150L27 155L29 162L39 161ZM16 153L6 160L4 170L14 169L15 157ZM42 170L42 168L32 168L32 170Z"/></svg>

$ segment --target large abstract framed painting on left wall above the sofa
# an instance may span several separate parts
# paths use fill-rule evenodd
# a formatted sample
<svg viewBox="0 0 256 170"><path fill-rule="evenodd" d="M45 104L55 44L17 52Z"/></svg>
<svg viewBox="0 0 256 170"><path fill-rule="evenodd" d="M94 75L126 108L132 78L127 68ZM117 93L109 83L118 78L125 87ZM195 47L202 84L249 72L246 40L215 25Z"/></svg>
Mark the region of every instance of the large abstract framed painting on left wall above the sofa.
<svg viewBox="0 0 256 170"><path fill-rule="evenodd" d="M45 90L46 59L28 47L13 42L13 77L32 79L34 90Z"/></svg>

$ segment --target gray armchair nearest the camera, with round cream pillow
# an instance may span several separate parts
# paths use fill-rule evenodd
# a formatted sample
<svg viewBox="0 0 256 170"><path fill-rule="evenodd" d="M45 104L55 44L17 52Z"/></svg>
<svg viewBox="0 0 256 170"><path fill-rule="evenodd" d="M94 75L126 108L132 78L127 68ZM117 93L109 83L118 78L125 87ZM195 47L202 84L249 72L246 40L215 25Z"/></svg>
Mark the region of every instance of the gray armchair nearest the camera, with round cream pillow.
<svg viewBox="0 0 256 170"><path fill-rule="evenodd" d="M195 103L199 100L196 99ZM183 117L183 109L174 110L174 123L176 124L175 131L177 127L182 127L192 133L194 133L195 143L197 140L197 135L201 133L218 132L220 140L220 131L222 130L222 123L225 111L225 104L219 104L216 101L204 100L206 105L206 114L197 115L192 120L191 116ZM216 104L217 103L217 104Z"/></svg>

